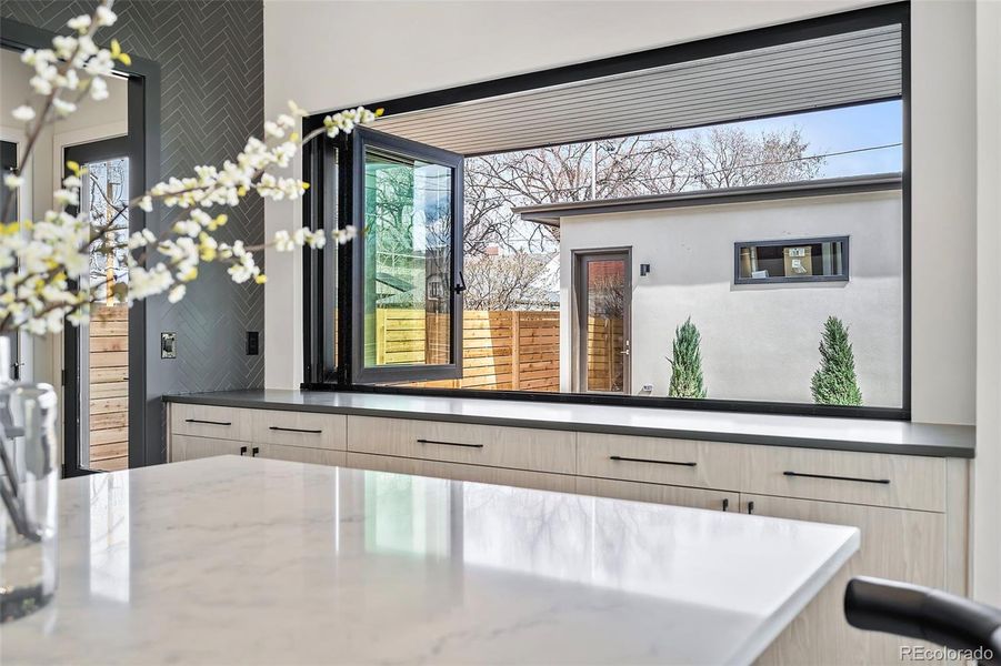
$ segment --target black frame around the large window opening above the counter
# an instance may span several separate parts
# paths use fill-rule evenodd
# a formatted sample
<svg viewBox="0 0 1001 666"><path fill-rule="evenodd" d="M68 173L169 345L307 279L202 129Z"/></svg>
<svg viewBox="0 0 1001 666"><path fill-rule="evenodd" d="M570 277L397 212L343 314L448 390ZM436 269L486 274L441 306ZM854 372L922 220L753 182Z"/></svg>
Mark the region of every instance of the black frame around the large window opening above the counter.
<svg viewBox="0 0 1001 666"><path fill-rule="evenodd" d="M765 401L747 401L747 400L687 400L663 396L638 396L638 395L602 395L589 393L533 393L527 391L476 391L469 389L420 389L404 386L386 386L373 384L361 384L354 381L352 375L351 354L346 350L351 349L351 329L353 326L340 326L338 331L338 349L340 350L337 367L331 369L324 366L321 355L317 355L316 350L322 347L322 342L316 340L317 329L312 329L312 322L316 322L316 310L322 307L324 302L321 262L316 256L314 251L304 251L303 266L303 285L304 285L304 330L303 339L306 341L306 359L304 369L306 380L301 384L304 391L340 391L354 393L378 393L378 394L398 394L398 395L422 395L422 396L442 396L442 397L463 397L463 398L483 398L483 400L510 400L524 402L551 402L551 403L573 403L573 404L601 404L601 405L621 405L621 406L642 406L651 408L682 408L682 410L701 410L710 412L749 412L761 414L788 414L788 415L809 415L809 416L833 416L833 417L853 417L853 418L877 418L877 420L901 420L909 421L911 418L911 19L910 2L894 2L881 4L870 8L849 10L839 13L832 13L823 17L804 19L788 23L780 23L767 28L752 29L748 31L712 37L690 42L661 47L629 53L582 62L578 64L557 67L538 72L525 74L515 74L500 79L459 85L432 92L407 95L402 98L377 101L374 103L366 103L371 109L381 108L387 115L396 113L406 113L410 111L419 111L434 107L447 104L456 104L482 98L491 98L503 94L523 92L527 90L548 88L551 85L560 85L572 83L592 78L608 77L642 70L648 68L663 67L668 64L681 63L690 60L703 58L712 58L729 53L760 49L771 46L779 46L795 41L830 37L844 32L853 32L877 28L882 26L901 27L901 94L899 98L902 107L902 173L901 173L901 193L902 193L902 238L901 250L903 256L903 265L901 271L902 281L902 327L903 339L901 341L901 365L902 365L902 385L901 385L901 406L900 407L878 407L878 406L841 406L841 405L817 405L809 403L784 403L784 402L765 402ZM888 100L868 100L862 103L874 103ZM859 104L848 104L859 105ZM803 109L804 111L821 111L837 109L842 105ZM331 110L333 111L333 110ZM794 113L781 113L777 115L793 115ZM326 112L316 113L303 119L304 132L312 131L322 127ZM718 122L707 124L719 124ZM693 124L685 128L672 129L695 129L705 127ZM599 138L595 138L599 139ZM320 144L320 151L329 150L324 148L330 142L314 142ZM339 145L343 145L340 140ZM528 148L528 147L527 147ZM312 157L318 149L308 147L303 154L303 174L304 179L313 182L314 175L323 175L322 170L318 173L316 169L310 168ZM350 153L351 151L346 151ZM346 165L351 164L351 155L343 154L339 161L341 171ZM329 180L329 174L326 176ZM323 182L327 182L324 180ZM346 178L340 173L336 180L338 186L338 201L343 206L347 203L344 185ZM316 211L317 206L313 202L317 198L323 198L318 194L318 190L327 190L328 188L312 188L307 193L303 201L303 210L306 219L311 221L314 228L318 226ZM347 209L341 209L347 210ZM340 224L346 224L340 221ZM350 246L348 246L350 248ZM461 254L461 253L458 253ZM349 321L352 316L350 310L351 295L351 264L352 251L342 246L338 251L338 312L341 321ZM318 270L320 269L320 270ZM320 281L318 281L318 278ZM799 279L797 281L803 281ZM760 284L754 281L754 284ZM788 282L787 282L788 283ZM329 299L328 299L329 301ZM322 312L322 311L321 311ZM312 329L312 330L311 330Z"/></svg>

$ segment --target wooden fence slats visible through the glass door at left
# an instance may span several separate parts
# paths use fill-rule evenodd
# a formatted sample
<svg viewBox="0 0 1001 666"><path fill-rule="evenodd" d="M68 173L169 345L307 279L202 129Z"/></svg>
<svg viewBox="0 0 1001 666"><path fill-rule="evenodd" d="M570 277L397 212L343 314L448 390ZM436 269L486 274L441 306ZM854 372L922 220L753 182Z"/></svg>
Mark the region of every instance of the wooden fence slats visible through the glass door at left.
<svg viewBox="0 0 1001 666"><path fill-rule="evenodd" d="M97 306L89 326L90 470L129 466L129 309Z"/></svg>

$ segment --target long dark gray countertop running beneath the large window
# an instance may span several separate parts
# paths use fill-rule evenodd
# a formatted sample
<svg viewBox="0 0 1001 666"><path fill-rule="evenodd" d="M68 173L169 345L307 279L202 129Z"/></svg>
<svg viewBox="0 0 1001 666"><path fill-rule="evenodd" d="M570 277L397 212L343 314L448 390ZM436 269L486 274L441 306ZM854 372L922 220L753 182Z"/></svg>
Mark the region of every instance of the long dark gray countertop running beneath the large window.
<svg viewBox="0 0 1001 666"><path fill-rule="evenodd" d="M975 433L975 428L971 425L939 425L908 421L783 416L701 410L326 391L220 391L168 395L163 400L226 407L394 416L681 440L967 458L973 457Z"/></svg>

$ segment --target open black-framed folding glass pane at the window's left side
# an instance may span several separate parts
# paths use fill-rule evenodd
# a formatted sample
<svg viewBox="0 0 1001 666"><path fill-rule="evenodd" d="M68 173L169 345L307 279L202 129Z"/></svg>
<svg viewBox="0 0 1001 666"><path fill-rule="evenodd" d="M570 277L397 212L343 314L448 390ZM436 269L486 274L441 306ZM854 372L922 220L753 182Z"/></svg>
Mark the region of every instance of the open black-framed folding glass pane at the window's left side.
<svg viewBox="0 0 1001 666"><path fill-rule="evenodd" d="M352 373L359 383L462 373L462 155L352 135Z"/></svg>

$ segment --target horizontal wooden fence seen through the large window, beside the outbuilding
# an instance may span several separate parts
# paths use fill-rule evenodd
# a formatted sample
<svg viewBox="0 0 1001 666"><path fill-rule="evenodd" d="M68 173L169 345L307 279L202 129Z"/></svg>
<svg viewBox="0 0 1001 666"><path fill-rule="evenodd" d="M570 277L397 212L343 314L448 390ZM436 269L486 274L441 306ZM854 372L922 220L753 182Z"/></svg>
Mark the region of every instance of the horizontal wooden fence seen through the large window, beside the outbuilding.
<svg viewBox="0 0 1001 666"><path fill-rule="evenodd" d="M432 319L433 317L433 319ZM446 315L423 310L376 312L377 359L424 363L441 355ZM428 333L430 332L430 334ZM406 386L496 391L560 390L560 313L467 310L462 313L462 379Z"/></svg>

